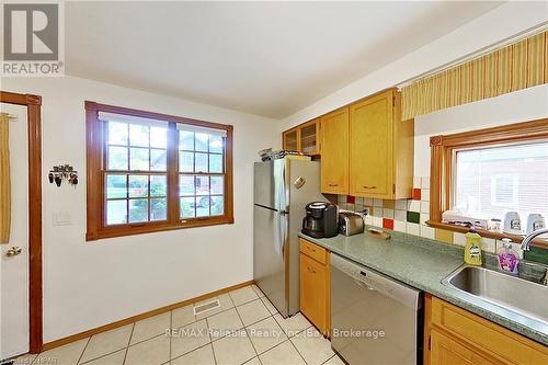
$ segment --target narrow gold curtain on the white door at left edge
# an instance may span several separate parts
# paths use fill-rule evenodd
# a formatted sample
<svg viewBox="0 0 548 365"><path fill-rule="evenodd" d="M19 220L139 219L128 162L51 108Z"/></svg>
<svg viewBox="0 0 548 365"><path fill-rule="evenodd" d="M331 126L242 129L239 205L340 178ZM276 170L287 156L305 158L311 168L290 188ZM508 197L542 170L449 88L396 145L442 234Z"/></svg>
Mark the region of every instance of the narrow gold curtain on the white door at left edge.
<svg viewBox="0 0 548 365"><path fill-rule="evenodd" d="M11 181L8 114L0 113L0 243L10 241Z"/></svg>

